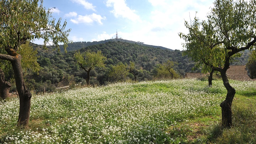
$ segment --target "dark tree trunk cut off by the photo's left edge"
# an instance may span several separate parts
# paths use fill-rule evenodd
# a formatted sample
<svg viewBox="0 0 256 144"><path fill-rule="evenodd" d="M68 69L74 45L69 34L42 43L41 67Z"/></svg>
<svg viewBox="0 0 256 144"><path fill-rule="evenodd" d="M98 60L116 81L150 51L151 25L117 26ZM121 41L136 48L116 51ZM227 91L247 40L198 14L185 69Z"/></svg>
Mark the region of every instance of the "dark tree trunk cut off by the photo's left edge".
<svg viewBox="0 0 256 144"><path fill-rule="evenodd" d="M5 100L9 96L11 84L4 79L4 72L0 68L0 97Z"/></svg>

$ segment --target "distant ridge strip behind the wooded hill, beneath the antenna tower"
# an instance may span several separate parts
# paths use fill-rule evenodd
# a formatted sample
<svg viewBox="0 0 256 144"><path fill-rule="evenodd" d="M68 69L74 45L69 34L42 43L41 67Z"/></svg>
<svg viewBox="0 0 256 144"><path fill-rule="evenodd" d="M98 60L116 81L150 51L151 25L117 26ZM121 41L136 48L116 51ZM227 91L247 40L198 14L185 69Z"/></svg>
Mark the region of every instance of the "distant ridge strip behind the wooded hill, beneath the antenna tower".
<svg viewBox="0 0 256 144"><path fill-rule="evenodd" d="M87 46L92 46L92 45L96 45L96 44L102 44L102 43L106 43L106 42L127 42L127 43L134 43L134 44L138 44L141 46L146 46L146 47L153 47L153 48L160 48L160 49L169 49L169 48L165 48L165 47L161 47L161 46L153 46L153 45L148 45L148 44L144 44L143 42L134 42L134 41L129 41L126 39L107 39L104 41L94 41L94 42L73 42L73 43L69 43L68 44L68 48L66 49L68 52L74 51L74 50L78 50ZM64 52L63 49L63 45L60 45L60 49L62 52ZM172 49L169 49L172 50Z"/></svg>

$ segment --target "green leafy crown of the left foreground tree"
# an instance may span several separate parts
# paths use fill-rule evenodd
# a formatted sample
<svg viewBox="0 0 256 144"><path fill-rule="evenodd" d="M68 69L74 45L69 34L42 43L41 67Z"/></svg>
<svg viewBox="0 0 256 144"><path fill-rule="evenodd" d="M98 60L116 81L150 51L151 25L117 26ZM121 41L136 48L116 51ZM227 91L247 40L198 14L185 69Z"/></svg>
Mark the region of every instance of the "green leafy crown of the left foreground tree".
<svg viewBox="0 0 256 144"><path fill-rule="evenodd" d="M44 44L56 46L67 43L69 30L65 30L66 21L61 25L61 18L55 22L52 13L42 5L42 0L9 0L0 1L0 45L16 50L22 42L39 38ZM39 4L39 5L38 5Z"/></svg>

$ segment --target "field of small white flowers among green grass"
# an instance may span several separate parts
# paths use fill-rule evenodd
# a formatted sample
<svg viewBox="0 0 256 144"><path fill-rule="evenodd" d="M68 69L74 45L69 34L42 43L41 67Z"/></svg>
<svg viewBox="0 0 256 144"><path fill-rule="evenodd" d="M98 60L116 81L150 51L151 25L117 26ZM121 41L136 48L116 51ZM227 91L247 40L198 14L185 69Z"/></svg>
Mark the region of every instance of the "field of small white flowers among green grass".
<svg viewBox="0 0 256 144"><path fill-rule="evenodd" d="M234 81L237 91L256 82ZM222 81L118 83L33 96L30 124L16 127L19 101L0 102L0 143L172 143L169 126L220 113Z"/></svg>

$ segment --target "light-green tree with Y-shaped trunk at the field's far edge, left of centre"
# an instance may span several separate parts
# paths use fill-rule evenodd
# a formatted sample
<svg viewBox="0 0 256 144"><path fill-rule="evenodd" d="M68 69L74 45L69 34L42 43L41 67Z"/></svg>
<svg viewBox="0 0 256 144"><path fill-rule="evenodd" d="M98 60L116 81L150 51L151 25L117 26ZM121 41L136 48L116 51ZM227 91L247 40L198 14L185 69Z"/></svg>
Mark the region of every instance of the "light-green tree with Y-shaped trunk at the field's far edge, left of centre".
<svg viewBox="0 0 256 144"><path fill-rule="evenodd" d="M101 68L104 67L105 60L107 59L101 51L91 52L91 50L87 50L84 53L80 53L80 51L76 52L74 54L74 58L76 59L77 63L81 66L82 69L84 69L87 73L86 77L86 84L90 84L90 71L94 69L95 67Z"/></svg>

